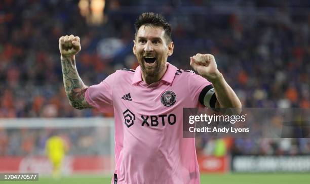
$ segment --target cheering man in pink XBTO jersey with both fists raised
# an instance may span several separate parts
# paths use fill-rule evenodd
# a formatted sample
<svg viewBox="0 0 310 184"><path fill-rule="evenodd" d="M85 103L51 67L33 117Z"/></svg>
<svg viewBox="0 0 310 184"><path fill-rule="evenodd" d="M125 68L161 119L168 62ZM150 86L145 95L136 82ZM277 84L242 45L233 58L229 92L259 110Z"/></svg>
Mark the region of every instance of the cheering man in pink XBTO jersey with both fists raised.
<svg viewBox="0 0 310 184"><path fill-rule="evenodd" d="M183 107L234 107L241 103L210 54L190 57L192 71L167 63L173 53L171 26L159 14L135 23L136 70L122 69L86 86L75 67L78 36L59 39L63 80L76 109L114 110L116 168L111 183L200 183L195 139L182 137Z"/></svg>

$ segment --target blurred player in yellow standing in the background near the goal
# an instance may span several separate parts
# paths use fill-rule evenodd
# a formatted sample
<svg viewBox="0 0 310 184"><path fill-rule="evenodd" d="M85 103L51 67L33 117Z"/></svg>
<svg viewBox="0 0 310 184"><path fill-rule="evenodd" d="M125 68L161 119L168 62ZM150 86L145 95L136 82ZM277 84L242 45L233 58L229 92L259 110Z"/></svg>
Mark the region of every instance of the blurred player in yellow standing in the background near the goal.
<svg viewBox="0 0 310 184"><path fill-rule="evenodd" d="M52 134L46 142L46 153L53 165L53 177L60 178L61 164L67 152L66 142L57 134Z"/></svg>

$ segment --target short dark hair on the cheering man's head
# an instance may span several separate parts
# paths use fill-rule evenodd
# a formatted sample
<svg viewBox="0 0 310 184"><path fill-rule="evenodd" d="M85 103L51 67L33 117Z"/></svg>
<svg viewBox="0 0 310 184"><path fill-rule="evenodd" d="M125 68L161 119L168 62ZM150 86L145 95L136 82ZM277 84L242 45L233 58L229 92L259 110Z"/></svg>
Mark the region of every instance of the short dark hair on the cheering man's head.
<svg viewBox="0 0 310 184"><path fill-rule="evenodd" d="M156 14L153 12L142 13L135 22L135 38L137 37L139 28L143 25L162 27L165 31L167 42L171 42L171 25L165 20L165 18L161 14Z"/></svg>

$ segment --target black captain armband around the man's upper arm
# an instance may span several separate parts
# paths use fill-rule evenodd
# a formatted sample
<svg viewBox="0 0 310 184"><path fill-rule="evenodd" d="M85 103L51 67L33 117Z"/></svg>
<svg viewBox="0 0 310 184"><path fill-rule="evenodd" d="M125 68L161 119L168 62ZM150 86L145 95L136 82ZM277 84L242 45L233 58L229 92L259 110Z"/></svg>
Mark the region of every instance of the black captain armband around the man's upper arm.
<svg viewBox="0 0 310 184"><path fill-rule="evenodd" d="M212 84L207 85L205 88L203 88L199 95L199 102L203 106L215 108L216 95Z"/></svg>

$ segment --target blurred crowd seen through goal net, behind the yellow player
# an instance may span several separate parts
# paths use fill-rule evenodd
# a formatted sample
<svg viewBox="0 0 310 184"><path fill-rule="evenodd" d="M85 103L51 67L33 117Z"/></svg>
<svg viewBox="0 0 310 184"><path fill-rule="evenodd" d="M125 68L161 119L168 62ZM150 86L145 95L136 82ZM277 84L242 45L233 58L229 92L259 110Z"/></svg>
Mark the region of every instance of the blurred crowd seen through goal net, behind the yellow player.
<svg viewBox="0 0 310 184"><path fill-rule="evenodd" d="M46 142L52 135L60 136L69 155L111 154L108 128L22 128L0 129L0 156L47 155Z"/></svg>

